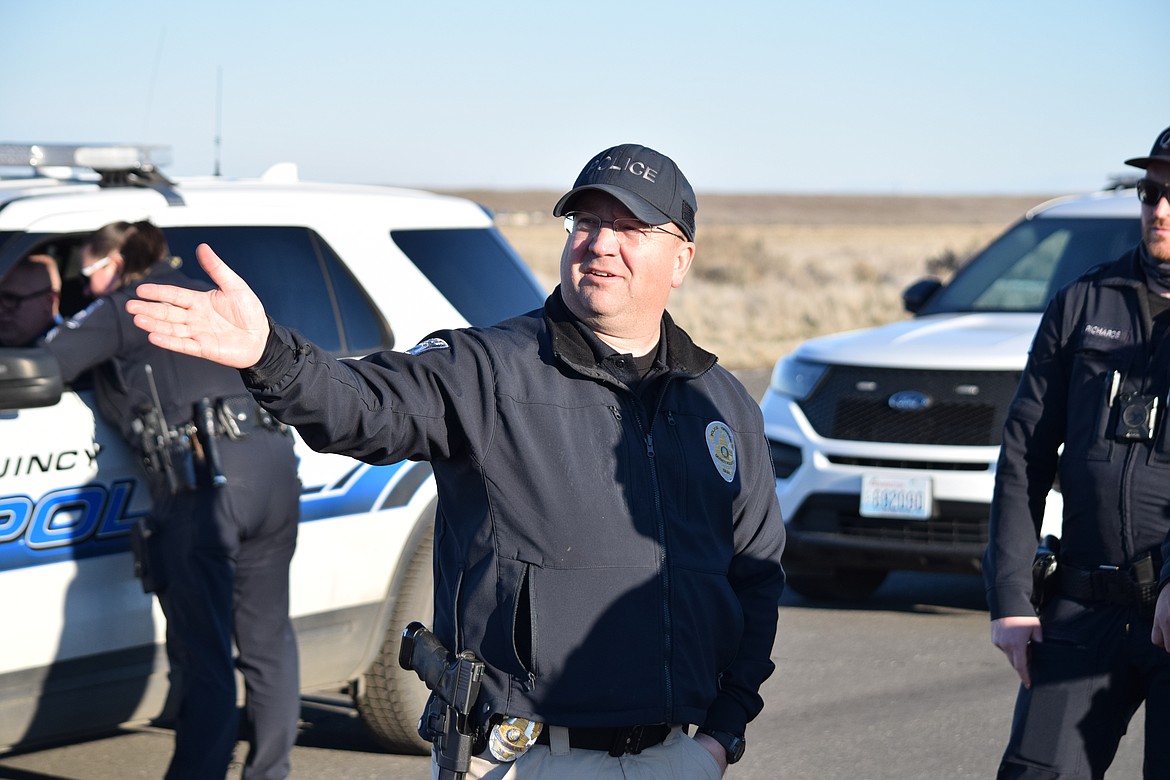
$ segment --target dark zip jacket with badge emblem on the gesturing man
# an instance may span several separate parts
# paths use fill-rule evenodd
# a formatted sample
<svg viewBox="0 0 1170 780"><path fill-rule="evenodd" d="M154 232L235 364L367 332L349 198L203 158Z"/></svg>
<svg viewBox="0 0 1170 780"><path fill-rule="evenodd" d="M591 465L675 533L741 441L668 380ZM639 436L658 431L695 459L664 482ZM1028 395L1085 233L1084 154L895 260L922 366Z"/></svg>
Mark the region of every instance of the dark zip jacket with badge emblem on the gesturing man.
<svg viewBox="0 0 1170 780"><path fill-rule="evenodd" d="M335 360L274 327L249 387L309 446L431 461L435 634L480 720L743 733L771 674L784 525L759 407L665 318L654 408L543 311Z"/></svg>

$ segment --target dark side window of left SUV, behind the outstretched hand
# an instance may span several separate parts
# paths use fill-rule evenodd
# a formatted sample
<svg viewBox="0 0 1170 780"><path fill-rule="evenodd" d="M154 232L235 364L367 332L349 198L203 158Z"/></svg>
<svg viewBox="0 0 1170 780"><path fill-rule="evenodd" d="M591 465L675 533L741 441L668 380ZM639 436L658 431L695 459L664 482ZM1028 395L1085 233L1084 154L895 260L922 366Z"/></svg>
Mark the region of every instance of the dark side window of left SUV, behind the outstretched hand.
<svg viewBox="0 0 1170 780"><path fill-rule="evenodd" d="M301 227L166 228L184 272L201 279L195 247L208 243L256 291L273 319L333 354L364 354L393 344L390 329L340 260Z"/></svg>

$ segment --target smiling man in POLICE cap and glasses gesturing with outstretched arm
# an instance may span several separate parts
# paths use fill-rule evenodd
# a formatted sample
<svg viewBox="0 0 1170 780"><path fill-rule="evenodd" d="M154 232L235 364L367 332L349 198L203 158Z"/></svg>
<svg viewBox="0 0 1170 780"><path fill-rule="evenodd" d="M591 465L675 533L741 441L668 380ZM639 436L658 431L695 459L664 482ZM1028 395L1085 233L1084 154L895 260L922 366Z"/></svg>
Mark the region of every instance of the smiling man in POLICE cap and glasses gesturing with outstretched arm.
<svg viewBox="0 0 1170 780"><path fill-rule="evenodd" d="M432 463L434 634L484 663L470 776L717 778L763 706L784 525L758 405L666 313L695 209L668 157L607 149L553 208L544 308L406 353L331 359L206 246L218 292L128 303L310 446Z"/></svg>

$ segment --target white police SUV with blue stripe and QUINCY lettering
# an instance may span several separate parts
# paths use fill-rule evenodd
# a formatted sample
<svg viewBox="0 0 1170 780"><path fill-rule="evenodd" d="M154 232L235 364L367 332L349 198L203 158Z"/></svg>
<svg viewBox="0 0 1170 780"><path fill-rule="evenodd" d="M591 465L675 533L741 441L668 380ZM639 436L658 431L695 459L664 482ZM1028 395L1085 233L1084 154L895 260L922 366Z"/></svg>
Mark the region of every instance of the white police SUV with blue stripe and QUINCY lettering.
<svg viewBox="0 0 1170 780"><path fill-rule="evenodd" d="M271 317L336 356L489 325L545 292L480 206L459 198L297 180L168 180L165 147L0 144L0 277L30 254L63 277L62 315L85 305L80 247L112 221L149 219L174 263L202 276L199 243ZM291 614L302 688L346 690L391 748L415 733L427 691L398 665L401 630L431 620L435 486L427 463L372 467L297 440L301 529ZM165 622L133 577L128 532L150 510L138 458L63 386L37 348L0 347L0 750L159 716Z"/></svg>

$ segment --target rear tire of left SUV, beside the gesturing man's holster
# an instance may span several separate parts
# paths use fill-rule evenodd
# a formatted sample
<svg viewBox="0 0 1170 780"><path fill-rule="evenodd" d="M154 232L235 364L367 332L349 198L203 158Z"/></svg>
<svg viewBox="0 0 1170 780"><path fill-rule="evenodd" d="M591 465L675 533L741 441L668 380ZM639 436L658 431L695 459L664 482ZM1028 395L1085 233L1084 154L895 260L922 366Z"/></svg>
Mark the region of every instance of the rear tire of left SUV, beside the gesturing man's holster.
<svg viewBox="0 0 1170 780"><path fill-rule="evenodd" d="M398 664L402 629L411 621L428 627L434 615L434 506L415 526L400 559L391 598L393 606L378 657L366 670L355 697L370 732L395 753L428 755L431 743L419 737L418 723L431 691L413 671Z"/></svg>

